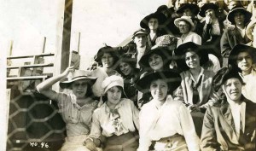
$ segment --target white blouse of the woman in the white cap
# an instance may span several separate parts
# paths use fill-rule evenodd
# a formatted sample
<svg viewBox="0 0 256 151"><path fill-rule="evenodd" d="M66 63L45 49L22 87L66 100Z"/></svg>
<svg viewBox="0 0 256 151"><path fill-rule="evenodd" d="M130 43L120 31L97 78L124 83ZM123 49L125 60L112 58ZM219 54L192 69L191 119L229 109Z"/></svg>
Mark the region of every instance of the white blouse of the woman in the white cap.
<svg viewBox="0 0 256 151"><path fill-rule="evenodd" d="M119 104L116 105L121 124L124 127L123 131L119 131L119 135L125 134L129 131L136 131L138 124L138 110L134 103L129 100L122 98ZM90 137L99 138L103 136L113 136L116 135L116 131L113 131L113 122L111 121L110 109L106 103L102 104L101 107L96 108L92 115L92 123L90 130Z"/></svg>

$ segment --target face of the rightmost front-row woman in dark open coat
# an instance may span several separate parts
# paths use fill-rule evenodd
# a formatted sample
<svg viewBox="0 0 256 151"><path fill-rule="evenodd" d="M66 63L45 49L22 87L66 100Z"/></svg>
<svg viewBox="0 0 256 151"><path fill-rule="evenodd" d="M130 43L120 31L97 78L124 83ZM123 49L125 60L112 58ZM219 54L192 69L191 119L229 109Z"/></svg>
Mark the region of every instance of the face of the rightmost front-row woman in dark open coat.
<svg viewBox="0 0 256 151"><path fill-rule="evenodd" d="M222 86L227 98L234 102L240 102L241 98L241 81L238 78L229 78Z"/></svg>

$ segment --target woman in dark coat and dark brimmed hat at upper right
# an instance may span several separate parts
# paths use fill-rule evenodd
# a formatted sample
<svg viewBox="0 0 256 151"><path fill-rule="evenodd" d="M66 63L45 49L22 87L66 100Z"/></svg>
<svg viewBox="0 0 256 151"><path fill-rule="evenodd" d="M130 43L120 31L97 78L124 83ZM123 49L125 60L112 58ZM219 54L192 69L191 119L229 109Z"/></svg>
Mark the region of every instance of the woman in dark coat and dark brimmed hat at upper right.
<svg viewBox="0 0 256 151"><path fill-rule="evenodd" d="M221 55L223 56L223 67L227 66L230 51L235 47L236 44L248 44L251 42L246 35L246 27L250 22L251 17L252 14L250 12L240 7L233 8L227 15L227 20L229 20L234 26L227 28L220 40Z"/></svg>

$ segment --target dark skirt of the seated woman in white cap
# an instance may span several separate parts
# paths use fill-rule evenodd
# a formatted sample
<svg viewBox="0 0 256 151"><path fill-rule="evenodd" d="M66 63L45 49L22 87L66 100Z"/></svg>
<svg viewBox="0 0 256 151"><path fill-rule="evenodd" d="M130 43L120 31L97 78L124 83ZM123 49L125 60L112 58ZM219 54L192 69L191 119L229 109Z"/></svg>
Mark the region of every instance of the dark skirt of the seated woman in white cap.
<svg viewBox="0 0 256 151"><path fill-rule="evenodd" d="M103 151L136 151L138 148L137 132L128 132L120 136L109 136Z"/></svg>

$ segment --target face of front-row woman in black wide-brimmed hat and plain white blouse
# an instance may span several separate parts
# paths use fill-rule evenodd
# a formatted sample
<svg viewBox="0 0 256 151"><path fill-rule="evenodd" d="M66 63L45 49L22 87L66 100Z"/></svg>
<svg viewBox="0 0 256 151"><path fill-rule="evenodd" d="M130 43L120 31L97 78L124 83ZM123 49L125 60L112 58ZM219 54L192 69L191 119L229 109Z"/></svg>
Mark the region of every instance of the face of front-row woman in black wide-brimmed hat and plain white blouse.
<svg viewBox="0 0 256 151"><path fill-rule="evenodd" d="M157 79L151 82L149 90L151 92L151 96L160 101L165 102L166 96L168 92L168 84L163 79Z"/></svg>

